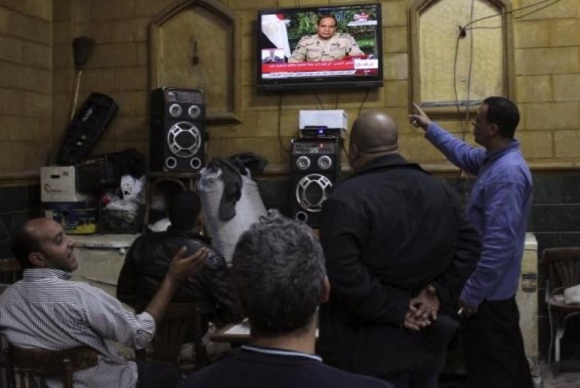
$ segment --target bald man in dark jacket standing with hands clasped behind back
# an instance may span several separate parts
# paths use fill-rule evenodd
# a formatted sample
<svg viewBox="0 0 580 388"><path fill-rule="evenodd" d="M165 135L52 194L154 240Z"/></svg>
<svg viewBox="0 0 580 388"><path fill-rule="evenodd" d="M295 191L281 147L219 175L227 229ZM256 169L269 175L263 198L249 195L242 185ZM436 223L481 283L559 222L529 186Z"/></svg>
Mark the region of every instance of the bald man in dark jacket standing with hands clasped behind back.
<svg viewBox="0 0 580 388"><path fill-rule="evenodd" d="M356 119L349 161L353 176L321 215L331 297L317 350L398 388L435 388L479 237L455 193L398 154L397 127L383 112Z"/></svg>

